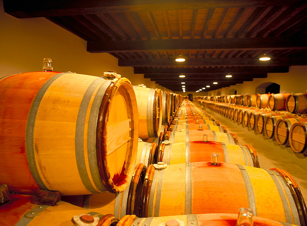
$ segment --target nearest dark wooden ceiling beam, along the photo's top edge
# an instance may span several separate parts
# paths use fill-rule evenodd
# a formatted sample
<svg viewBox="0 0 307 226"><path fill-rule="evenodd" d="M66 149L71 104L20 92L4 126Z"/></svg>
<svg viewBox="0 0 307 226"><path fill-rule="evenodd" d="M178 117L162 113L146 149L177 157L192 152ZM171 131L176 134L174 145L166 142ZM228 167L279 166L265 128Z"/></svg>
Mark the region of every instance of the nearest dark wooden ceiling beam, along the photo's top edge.
<svg viewBox="0 0 307 226"><path fill-rule="evenodd" d="M55 17L118 12L236 8L304 4L305 0L3 0L5 12L17 18Z"/></svg>

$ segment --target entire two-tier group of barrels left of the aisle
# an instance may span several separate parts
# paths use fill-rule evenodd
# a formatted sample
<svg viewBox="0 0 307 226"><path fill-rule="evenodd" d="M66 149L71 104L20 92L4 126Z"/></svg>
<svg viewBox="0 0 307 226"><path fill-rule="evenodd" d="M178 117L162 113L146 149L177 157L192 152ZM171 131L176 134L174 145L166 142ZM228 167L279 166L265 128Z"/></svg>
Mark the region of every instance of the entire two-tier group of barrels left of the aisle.
<svg viewBox="0 0 307 226"><path fill-rule="evenodd" d="M0 94L1 225L306 225L291 175L181 95L70 72Z"/></svg>

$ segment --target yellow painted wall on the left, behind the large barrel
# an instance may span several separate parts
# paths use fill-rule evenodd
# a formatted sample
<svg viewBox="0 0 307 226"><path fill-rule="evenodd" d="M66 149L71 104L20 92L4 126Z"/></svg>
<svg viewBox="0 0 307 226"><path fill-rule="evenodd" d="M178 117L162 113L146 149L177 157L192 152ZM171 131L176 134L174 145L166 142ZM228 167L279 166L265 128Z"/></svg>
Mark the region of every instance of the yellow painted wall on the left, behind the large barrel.
<svg viewBox="0 0 307 226"><path fill-rule="evenodd" d="M43 58L51 58L53 71L103 76L108 70L128 78L132 85L170 91L132 67L119 67L108 53L88 53L86 41L45 18L17 19L3 10L0 0L0 77L20 72L41 71Z"/></svg>

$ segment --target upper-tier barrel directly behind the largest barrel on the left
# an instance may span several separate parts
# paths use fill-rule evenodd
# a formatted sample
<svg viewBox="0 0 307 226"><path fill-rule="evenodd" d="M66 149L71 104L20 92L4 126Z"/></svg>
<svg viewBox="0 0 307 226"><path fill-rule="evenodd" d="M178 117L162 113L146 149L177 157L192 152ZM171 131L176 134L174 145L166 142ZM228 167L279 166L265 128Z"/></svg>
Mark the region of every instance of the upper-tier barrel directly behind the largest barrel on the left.
<svg viewBox="0 0 307 226"><path fill-rule="evenodd" d="M133 86L137 103L141 139L158 137L162 125L162 96L160 89Z"/></svg>

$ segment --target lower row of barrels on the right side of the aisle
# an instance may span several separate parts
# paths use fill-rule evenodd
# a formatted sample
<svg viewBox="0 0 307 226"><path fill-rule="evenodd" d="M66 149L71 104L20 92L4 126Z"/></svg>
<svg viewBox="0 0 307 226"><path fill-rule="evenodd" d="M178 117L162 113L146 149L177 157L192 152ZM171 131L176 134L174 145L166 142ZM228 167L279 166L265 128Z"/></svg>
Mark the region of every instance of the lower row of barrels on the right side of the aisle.
<svg viewBox="0 0 307 226"><path fill-rule="evenodd" d="M263 134L268 139L276 140L280 145L290 146L295 153L307 151L307 118L304 114L205 100L195 101L243 127Z"/></svg>

